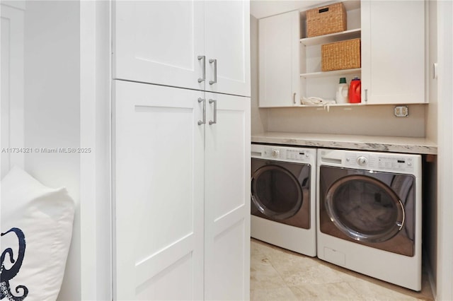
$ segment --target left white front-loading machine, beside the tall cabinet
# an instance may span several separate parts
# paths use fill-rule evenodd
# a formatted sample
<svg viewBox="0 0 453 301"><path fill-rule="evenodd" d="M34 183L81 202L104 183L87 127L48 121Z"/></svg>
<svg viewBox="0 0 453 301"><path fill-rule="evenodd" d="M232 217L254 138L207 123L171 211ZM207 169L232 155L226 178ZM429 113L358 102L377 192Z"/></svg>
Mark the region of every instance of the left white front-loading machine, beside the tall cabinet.
<svg viewBox="0 0 453 301"><path fill-rule="evenodd" d="M251 145L251 237L316 256L316 149Z"/></svg>

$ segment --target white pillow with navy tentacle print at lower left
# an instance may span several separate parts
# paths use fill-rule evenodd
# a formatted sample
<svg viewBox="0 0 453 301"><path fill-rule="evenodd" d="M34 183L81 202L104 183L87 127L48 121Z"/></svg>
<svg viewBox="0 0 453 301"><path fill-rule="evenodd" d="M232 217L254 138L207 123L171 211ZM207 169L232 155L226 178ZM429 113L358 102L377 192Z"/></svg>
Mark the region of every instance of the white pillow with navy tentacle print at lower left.
<svg viewBox="0 0 453 301"><path fill-rule="evenodd" d="M73 220L74 201L65 188L45 187L18 167L8 172L1 180L0 299L57 299Z"/></svg>

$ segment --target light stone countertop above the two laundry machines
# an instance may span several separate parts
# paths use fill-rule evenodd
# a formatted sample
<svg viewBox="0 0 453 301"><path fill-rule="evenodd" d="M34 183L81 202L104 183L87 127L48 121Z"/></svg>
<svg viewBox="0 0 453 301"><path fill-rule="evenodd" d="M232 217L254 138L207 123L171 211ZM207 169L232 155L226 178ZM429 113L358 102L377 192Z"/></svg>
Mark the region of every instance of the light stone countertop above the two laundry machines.
<svg viewBox="0 0 453 301"><path fill-rule="evenodd" d="M251 135L252 143L271 143L316 148L437 155L437 144L426 138L360 136L343 134L303 134L265 132Z"/></svg>

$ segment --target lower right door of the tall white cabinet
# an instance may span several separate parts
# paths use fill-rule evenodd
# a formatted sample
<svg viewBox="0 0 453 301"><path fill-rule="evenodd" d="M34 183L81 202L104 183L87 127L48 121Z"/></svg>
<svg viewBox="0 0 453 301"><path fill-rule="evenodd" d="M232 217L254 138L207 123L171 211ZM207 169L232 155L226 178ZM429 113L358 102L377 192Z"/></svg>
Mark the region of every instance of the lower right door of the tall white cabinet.
<svg viewBox="0 0 453 301"><path fill-rule="evenodd" d="M206 94L205 300L249 300L250 98Z"/></svg>

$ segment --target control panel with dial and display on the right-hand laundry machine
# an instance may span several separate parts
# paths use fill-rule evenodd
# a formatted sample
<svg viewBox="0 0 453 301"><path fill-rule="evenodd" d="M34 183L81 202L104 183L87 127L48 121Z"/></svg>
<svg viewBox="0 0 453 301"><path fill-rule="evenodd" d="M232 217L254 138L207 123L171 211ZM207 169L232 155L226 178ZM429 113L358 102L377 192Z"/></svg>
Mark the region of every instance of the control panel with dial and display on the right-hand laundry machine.
<svg viewBox="0 0 453 301"><path fill-rule="evenodd" d="M413 170L413 158L404 155L374 155L347 153L345 158L346 167L360 168L369 170L392 170L410 172Z"/></svg>

